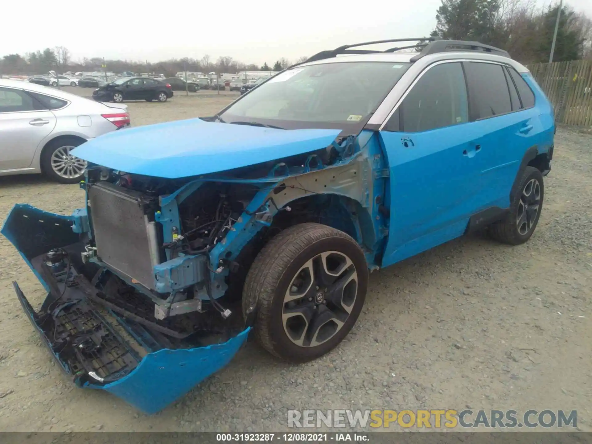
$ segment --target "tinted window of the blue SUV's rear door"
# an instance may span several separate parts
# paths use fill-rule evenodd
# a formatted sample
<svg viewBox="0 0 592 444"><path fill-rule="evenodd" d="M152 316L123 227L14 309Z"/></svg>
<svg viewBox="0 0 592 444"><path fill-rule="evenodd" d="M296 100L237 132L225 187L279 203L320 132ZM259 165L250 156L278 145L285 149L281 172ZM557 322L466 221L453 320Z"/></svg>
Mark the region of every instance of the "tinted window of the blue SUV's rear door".
<svg viewBox="0 0 592 444"><path fill-rule="evenodd" d="M493 63L466 63L471 104L475 118L488 118L512 111L504 67Z"/></svg>

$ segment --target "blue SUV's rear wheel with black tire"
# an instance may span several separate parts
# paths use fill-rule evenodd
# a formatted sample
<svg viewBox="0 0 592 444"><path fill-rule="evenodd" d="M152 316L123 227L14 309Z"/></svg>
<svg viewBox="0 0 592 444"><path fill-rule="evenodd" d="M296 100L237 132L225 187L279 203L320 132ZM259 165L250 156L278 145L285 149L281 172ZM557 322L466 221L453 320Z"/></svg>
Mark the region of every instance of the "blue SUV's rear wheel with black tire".
<svg viewBox="0 0 592 444"><path fill-rule="evenodd" d="M543 175L538 169L527 166L519 175L510 197L509 213L489 227L493 239L510 245L525 243L535 232L545 194Z"/></svg>

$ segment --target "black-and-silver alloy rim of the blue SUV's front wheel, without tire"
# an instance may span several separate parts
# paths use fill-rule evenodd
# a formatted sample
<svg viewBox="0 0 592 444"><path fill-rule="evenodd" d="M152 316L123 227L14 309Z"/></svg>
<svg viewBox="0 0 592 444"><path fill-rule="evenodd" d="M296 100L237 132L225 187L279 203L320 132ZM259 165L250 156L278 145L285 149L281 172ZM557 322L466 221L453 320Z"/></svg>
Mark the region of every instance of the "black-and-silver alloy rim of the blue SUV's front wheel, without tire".
<svg viewBox="0 0 592 444"><path fill-rule="evenodd" d="M331 339L348 320L358 294L358 272L348 256L330 251L308 260L284 295L282 324L301 347Z"/></svg>

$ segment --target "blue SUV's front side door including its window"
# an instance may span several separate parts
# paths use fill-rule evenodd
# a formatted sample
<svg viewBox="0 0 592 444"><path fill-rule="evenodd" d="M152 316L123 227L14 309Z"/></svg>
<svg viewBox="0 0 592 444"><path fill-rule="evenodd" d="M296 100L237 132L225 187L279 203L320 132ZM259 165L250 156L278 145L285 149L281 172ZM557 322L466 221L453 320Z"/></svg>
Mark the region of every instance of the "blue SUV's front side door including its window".
<svg viewBox="0 0 592 444"><path fill-rule="evenodd" d="M478 153L461 63L427 67L380 134L390 167L387 266L461 236L474 211Z"/></svg>

